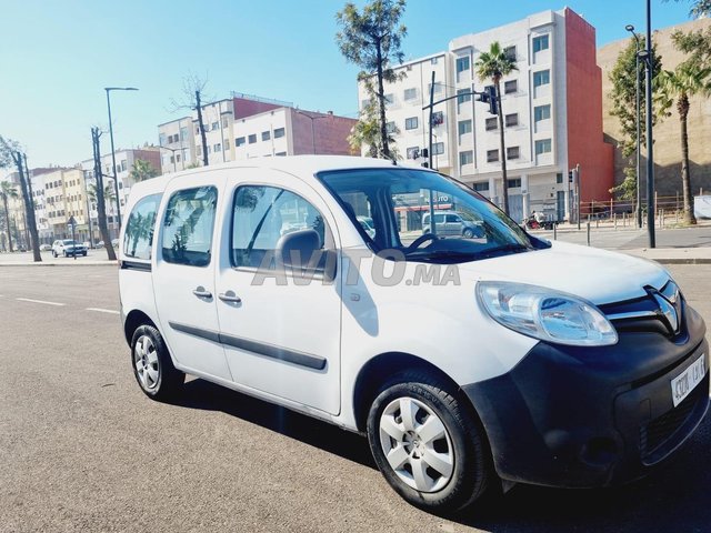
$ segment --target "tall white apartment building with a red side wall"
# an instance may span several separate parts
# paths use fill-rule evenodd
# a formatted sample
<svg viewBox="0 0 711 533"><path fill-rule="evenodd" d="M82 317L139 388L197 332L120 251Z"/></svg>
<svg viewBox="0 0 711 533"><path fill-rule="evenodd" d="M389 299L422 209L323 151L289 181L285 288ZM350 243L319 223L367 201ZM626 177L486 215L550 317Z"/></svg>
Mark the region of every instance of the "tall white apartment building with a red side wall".
<svg viewBox="0 0 711 533"><path fill-rule="evenodd" d="M475 63L498 41L517 70L501 80L507 153L500 153L498 119L468 92L483 91ZM402 158L428 147L428 112L434 72L433 165L501 203L501 158L507 158L510 214L531 211L570 219L575 202L568 171L580 164L580 199L604 201L613 185L612 145L603 140L601 70L595 30L569 8L543 11L488 31L462 36L445 52L397 68L387 86L388 120ZM361 109L367 92L359 88ZM418 161L423 161L422 158Z"/></svg>

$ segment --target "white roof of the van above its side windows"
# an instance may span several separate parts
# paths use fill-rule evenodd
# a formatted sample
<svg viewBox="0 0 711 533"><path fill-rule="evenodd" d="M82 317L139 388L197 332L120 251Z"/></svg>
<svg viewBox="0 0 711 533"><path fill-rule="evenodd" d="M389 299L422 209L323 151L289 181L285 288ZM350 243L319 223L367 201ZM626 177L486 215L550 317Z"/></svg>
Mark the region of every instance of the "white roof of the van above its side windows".
<svg viewBox="0 0 711 533"><path fill-rule="evenodd" d="M387 159L360 158L354 155L284 155L273 158L252 158L241 161L230 161L217 163L209 167L198 167L196 169L181 170L171 174L163 174L158 178L141 181L131 188L141 197L161 192L171 180L180 179L182 175L194 175L200 172L211 172L221 169L273 169L283 172L313 175L317 172L329 170L367 169L367 168L393 168L393 163ZM398 162L398 168L427 170L412 163Z"/></svg>

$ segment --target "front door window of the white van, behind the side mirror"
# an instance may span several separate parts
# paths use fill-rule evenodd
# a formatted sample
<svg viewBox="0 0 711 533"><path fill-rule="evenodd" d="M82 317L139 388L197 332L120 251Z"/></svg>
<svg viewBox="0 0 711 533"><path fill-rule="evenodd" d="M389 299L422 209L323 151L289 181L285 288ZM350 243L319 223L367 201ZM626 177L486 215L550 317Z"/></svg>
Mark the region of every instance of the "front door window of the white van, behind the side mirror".
<svg viewBox="0 0 711 533"><path fill-rule="evenodd" d="M327 242L326 222L311 203L276 187L238 188L232 214L232 266L274 269L273 258L279 239L306 229L317 231L323 249Z"/></svg>

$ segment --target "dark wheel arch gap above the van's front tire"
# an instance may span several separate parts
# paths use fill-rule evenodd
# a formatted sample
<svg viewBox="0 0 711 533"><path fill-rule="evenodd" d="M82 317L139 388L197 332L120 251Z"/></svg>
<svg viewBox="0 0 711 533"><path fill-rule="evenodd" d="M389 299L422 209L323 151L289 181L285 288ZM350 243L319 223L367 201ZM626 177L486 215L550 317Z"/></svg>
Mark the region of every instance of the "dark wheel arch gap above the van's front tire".
<svg viewBox="0 0 711 533"><path fill-rule="evenodd" d="M434 364L410 353L387 352L369 360L358 373L353 386L353 415L358 431L364 432L368 411L380 386L405 371L420 370L432 374L457 392L458 399L479 419L477 409L469 398L461 392L459 384L444 371Z"/></svg>

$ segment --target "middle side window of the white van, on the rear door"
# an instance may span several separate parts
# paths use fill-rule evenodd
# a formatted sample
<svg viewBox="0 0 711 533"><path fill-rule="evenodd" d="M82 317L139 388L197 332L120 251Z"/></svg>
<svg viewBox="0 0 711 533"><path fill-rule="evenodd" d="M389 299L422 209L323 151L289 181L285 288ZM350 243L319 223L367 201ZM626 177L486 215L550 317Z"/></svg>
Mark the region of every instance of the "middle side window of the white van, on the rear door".
<svg viewBox="0 0 711 533"><path fill-rule="evenodd" d="M162 228L163 260L168 263L210 264L218 191L199 187L173 193Z"/></svg>

